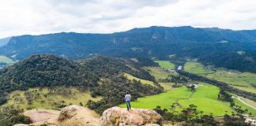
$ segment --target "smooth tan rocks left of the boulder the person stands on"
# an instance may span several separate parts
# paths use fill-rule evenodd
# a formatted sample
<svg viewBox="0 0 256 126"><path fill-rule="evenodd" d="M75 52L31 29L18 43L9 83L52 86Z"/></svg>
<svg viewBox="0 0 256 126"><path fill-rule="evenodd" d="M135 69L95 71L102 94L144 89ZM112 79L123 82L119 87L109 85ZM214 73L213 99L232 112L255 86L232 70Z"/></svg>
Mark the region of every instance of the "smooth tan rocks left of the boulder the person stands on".
<svg viewBox="0 0 256 126"><path fill-rule="evenodd" d="M100 126L100 115L91 109L83 106L66 106L61 110L58 116L47 119L43 114L45 111L36 111L27 114L31 119L37 118L39 121L32 121L33 125L47 124L48 126ZM35 115L37 114L37 115ZM33 115L33 116L32 116ZM40 120L40 119L43 120ZM16 124L15 126L25 126L26 124Z"/></svg>

